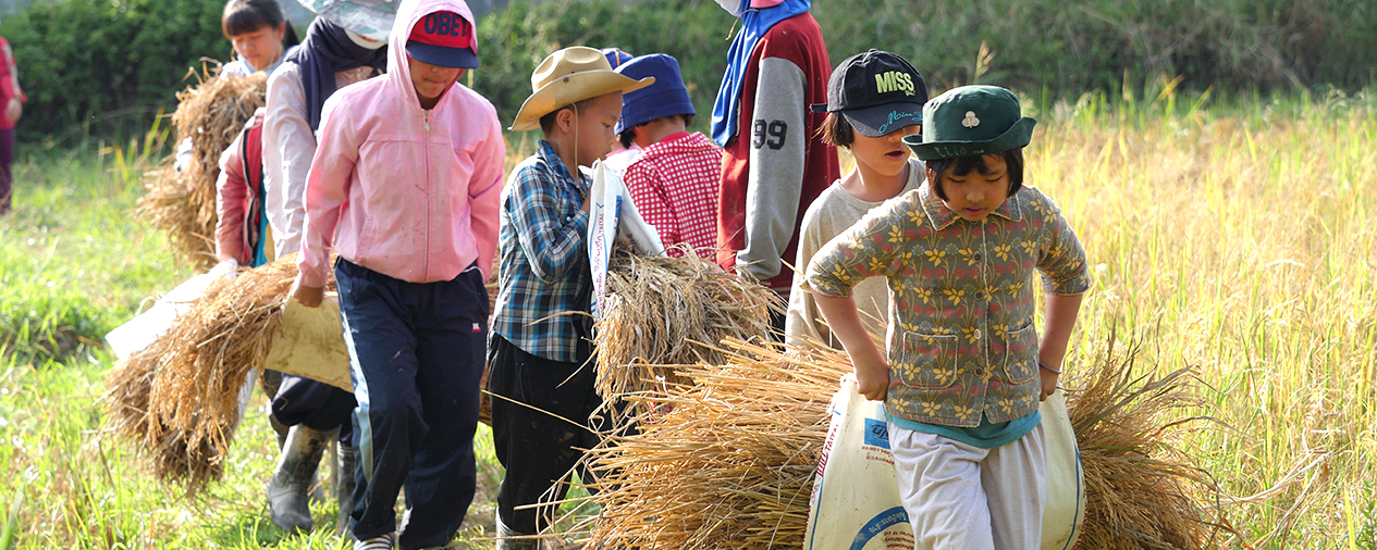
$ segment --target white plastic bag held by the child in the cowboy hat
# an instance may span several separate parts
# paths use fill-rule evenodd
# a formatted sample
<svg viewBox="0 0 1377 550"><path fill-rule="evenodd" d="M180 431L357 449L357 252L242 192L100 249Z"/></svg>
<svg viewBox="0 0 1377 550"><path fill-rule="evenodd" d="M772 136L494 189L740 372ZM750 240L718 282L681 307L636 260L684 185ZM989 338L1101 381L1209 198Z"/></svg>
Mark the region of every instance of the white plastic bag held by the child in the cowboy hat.
<svg viewBox="0 0 1377 550"><path fill-rule="evenodd" d="M636 212L621 175L598 162L593 164L592 177L587 241L588 261L593 272L593 319L599 319L607 293L607 263L611 261L617 235L629 238L639 254L664 254L665 246L660 242L660 231Z"/></svg>

